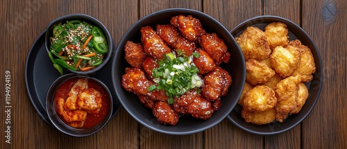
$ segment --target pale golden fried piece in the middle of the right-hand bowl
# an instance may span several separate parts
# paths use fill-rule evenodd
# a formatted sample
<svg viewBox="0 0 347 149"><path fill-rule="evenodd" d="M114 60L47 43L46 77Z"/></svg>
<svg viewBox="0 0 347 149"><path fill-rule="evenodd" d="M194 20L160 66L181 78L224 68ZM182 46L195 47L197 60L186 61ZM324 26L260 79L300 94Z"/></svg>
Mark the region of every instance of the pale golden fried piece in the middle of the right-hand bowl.
<svg viewBox="0 0 347 149"><path fill-rule="evenodd" d="M290 76L300 64L300 51L294 46L276 46L270 55L270 62L276 73L282 78Z"/></svg>

